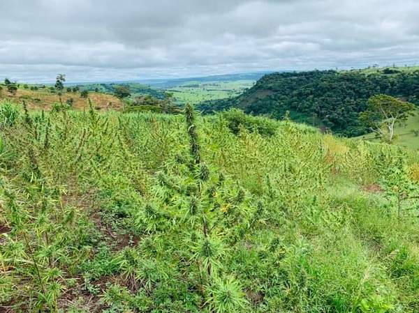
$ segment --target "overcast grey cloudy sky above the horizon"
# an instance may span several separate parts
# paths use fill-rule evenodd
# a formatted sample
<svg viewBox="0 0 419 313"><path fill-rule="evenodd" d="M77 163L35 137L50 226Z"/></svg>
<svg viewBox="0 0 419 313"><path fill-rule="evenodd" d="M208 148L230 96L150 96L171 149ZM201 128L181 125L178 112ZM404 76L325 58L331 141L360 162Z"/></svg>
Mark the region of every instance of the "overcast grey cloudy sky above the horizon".
<svg viewBox="0 0 419 313"><path fill-rule="evenodd" d="M0 77L68 82L419 63L417 0L0 1Z"/></svg>

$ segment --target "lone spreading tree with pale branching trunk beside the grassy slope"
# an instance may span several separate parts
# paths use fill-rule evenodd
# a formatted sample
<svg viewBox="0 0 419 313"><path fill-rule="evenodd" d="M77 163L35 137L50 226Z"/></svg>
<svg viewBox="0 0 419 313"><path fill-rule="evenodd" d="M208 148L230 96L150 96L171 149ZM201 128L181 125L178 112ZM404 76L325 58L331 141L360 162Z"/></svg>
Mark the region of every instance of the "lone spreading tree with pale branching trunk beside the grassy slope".
<svg viewBox="0 0 419 313"><path fill-rule="evenodd" d="M395 123L413 115L415 105L387 95L369 98L367 109L360 113L360 121L389 143L395 137Z"/></svg>

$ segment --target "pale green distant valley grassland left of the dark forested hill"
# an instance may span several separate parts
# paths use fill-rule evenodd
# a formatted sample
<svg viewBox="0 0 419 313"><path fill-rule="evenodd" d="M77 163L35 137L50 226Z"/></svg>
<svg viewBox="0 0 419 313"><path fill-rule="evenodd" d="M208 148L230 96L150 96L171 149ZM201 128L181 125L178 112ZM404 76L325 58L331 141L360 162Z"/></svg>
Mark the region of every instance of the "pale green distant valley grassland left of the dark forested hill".
<svg viewBox="0 0 419 313"><path fill-rule="evenodd" d="M251 80L233 82L185 82L180 86L168 89L179 104L197 104L206 100L218 100L239 95L244 89L253 86Z"/></svg>

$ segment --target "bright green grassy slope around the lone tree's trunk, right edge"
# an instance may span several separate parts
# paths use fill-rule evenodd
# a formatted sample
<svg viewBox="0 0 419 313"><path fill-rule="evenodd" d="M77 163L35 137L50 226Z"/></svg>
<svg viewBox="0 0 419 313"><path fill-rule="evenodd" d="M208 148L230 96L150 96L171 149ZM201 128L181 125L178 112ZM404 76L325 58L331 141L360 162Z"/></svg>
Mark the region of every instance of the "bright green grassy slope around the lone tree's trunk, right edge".
<svg viewBox="0 0 419 313"><path fill-rule="evenodd" d="M414 116L409 116L406 122L395 126L395 134L397 135L393 144L404 146L406 148L419 150L419 110L416 110ZM374 134L364 135L358 138L367 139L372 142L379 142Z"/></svg>

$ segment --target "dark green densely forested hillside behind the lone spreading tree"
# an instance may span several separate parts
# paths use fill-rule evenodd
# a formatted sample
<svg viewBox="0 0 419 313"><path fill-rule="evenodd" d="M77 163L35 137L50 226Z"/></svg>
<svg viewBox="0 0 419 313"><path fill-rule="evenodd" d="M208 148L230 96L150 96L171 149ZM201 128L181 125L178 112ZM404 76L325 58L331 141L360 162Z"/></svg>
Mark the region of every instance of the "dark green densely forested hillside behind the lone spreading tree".
<svg viewBox="0 0 419 313"><path fill-rule="evenodd" d="M369 97L384 93L419 104L419 70L283 72L265 75L235 98L203 102L204 112L230 107L281 119L286 111L294 121L346 136L367 129L358 121Z"/></svg>

